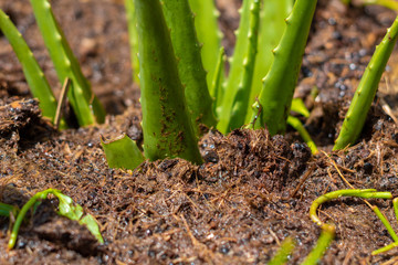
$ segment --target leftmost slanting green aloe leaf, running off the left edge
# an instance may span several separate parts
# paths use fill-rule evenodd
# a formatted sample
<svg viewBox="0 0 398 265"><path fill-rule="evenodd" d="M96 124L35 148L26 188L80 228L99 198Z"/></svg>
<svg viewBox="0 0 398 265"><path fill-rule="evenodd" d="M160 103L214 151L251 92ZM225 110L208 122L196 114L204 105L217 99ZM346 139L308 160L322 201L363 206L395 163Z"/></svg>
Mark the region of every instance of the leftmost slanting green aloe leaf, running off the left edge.
<svg viewBox="0 0 398 265"><path fill-rule="evenodd" d="M36 97L40 102L40 109L43 116L54 123L56 99L51 87L21 33L2 10L0 10L0 30L4 33L12 49L15 51L31 93L33 97ZM64 119L61 119L60 127L66 127Z"/></svg>

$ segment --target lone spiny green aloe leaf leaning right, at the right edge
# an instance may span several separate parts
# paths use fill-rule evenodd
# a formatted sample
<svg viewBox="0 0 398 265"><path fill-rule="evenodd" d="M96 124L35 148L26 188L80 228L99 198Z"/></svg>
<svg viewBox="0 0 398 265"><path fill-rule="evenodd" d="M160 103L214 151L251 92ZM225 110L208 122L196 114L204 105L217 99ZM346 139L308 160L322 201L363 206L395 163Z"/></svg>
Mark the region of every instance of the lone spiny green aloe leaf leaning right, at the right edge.
<svg viewBox="0 0 398 265"><path fill-rule="evenodd" d="M381 43L376 47L376 51L360 78L359 85L343 121L342 130L333 148L334 150L339 150L355 144L359 137L367 113L376 95L381 75L397 40L398 17L387 30L387 34Z"/></svg>

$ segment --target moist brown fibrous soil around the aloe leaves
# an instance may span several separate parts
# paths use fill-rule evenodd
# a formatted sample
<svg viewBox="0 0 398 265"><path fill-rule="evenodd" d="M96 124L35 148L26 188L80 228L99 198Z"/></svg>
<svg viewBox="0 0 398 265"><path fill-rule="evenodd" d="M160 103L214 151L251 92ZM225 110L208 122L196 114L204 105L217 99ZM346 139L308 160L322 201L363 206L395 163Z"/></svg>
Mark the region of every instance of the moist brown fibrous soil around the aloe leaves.
<svg viewBox="0 0 398 265"><path fill-rule="evenodd" d="M57 95L61 85L29 1L1 0L0 6ZM296 241L289 264L298 264L321 233L308 216L317 197L350 186L398 195L398 52L357 145L331 151L358 80L395 19L392 11L320 0L296 89L311 109L303 121L318 155L312 156L292 129L274 137L266 130L223 136L209 129L199 142L203 165L166 159L144 162L132 172L109 169L100 145L101 135L143 138L123 1L54 0L52 6L108 116L103 125L56 131L41 117L1 35L0 201L21 208L34 193L59 189L97 219L105 243L97 244L84 226L59 216L57 200L50 197L22 224L12 251L7 251L9 219L0 219L1 264L265 264L287 236ZM218 1L229 53L239 6ZM398 231L391 201L369 202ZM392 240L363 200L341 198L325 203L318 214L336 224L336 237L321 264L398 263L397 248L371 256Z"/></svg>

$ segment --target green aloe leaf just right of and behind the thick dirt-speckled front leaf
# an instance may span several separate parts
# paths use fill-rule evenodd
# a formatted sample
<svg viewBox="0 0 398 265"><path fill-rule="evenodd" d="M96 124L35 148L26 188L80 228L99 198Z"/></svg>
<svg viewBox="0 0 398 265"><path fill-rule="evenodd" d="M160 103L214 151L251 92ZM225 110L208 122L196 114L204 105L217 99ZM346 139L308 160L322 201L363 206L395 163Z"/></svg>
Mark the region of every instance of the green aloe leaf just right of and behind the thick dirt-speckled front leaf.
<svg viewBox="0 0 398 265"><path fill-rule="evenodd" d="M161 0L161 6L172 47L178 61L179 77L184 86L185 97L192 119L193 128L199 136L200 124L216 126L212 113L212 98L206 82L200 44L197 40L193 14L188 0ZM181 26L184 25L184 26Z"/></svg>

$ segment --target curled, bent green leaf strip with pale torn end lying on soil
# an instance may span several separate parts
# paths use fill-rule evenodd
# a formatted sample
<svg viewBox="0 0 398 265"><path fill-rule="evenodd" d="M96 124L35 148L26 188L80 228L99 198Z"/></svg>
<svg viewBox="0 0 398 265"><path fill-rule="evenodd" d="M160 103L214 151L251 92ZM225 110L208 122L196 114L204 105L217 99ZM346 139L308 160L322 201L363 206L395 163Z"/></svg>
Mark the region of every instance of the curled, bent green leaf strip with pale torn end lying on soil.
<svg viewBox="0 0 398 265"><path fill-rule="evenodd" d="M19 229L20 229L22 221L25 218L28 211L30 209L36 206L38 203L40 203L42 200L44 200L49 194L53 194L59 199L59 201L60 201L59 214L60 215L65 216L70 220L77 221L80 224L86 225L86 227L95 236L95 239L100 243L104 243L104 240L100 232L98 224L96 223L96 220L91 214L86 214L83 216L83 214L84 214L83 208L81 205L78 205L77 203L74 203L70 197L62 194L61 191L59 191L59 190L48 189L48 190L35 193L22 206L21 211L19 212L19 214L17 216L15 223L12 226L10 240L8 243L9 250L12 250L17 243L17 236L18 236Z"/></svg>

